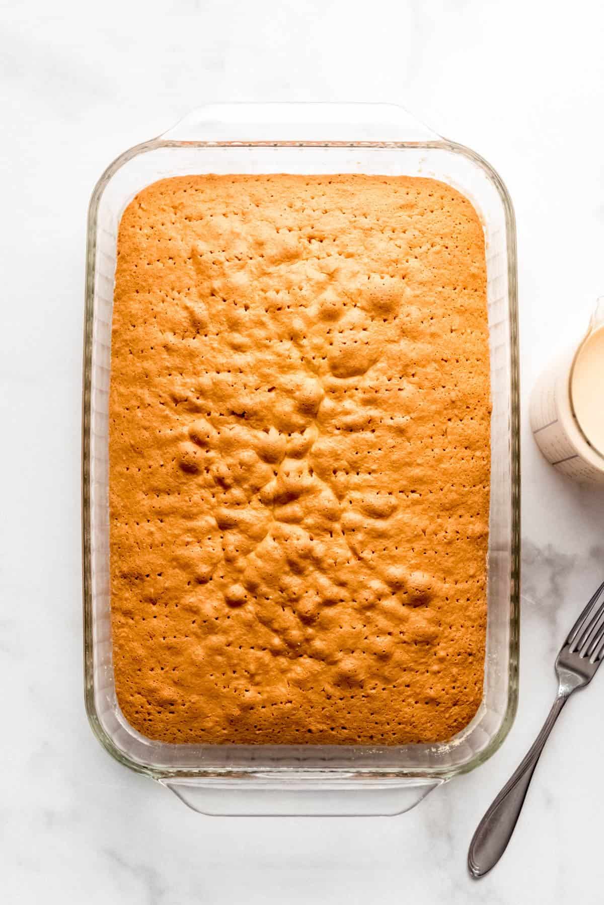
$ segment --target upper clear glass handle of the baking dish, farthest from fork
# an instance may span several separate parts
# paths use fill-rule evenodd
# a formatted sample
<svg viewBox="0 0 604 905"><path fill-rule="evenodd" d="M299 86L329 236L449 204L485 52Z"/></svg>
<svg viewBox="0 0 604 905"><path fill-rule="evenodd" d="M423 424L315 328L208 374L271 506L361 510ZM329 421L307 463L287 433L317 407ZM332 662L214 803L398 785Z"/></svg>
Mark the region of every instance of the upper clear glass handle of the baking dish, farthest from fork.
<svg viewBox="0 0 604 905"><path fill-rule="evenodd" d="M441 141L396 104L226 103L191 110L166 141Z"/></svg>

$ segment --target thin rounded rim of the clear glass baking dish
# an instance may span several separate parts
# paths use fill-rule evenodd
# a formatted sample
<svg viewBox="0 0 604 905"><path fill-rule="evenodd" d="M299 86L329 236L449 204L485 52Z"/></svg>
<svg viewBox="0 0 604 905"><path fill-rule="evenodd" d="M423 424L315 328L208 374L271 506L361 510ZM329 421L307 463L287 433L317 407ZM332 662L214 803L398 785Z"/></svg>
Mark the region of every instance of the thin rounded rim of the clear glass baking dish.
<svg viewBox="0 0 604 905"><path fill-rule="evenodd" d="M94 643L92 637L92 586L91 586L91 364L92 364L92 322L94 314L94 291L95 291L95 267L96 267L96 228L97 214L101 201L102 192L120 167L124 166L130 159L153 151L157 148L178 148L194 145L196 148L437 148L446 149L456 154L461 154L472 160L475 165L481 167L487 177L494 183L499 195L501 196L503 209L505 211L506 220L506 243L507 243L507 260L508 260L508 304L510 313L510 355L511 355L511 376L512 376L512 405L511 405L511 424L510 424L510 443L511 443L511 469L512 469L512 571L511 571L511 599L510 599L510 661L509 661L509 695L508 706L503 716L498 731L490 738L488 744L481 749L474 757L470 757L467 762L453 767L405 767L405 755L407 749L417 750L417 746L404 747L384 747L384 748L367 748L365 746L225 746L227 748L239 748L239 753L243 753L243 748L252 748L254 753L262 755L265 748L271 750L277 749L283 757L286 754L304 749L304 753L309 748L313 749L314 754L320 755L321 752L329 757L329 760L337 759L337 755L344 750L351 752L352 756L359 753L359 759L362 762L365 757L379 756L381 753L396 754L400 757L400 764L396 767L380 767L377 763L375 766L367 765L351 767L329 767L327 764L319 767L293 767L292 764L285 766L279 763L270 764L267 761L260 764L250 764L245 766L237 764L233 766L225 765L224 767L166 767L157 766L151 762L140 762L123 751L116 745L115 741L110 738L101 724L101 719L96 708L96 701L93 686L93 670L94 670ZM436 176L437 177L437 176ZM110 754L120 763L128 766L140 773L148 774L156 779L165 779L168 777L187 776L187 777L206 777L208 781L212 781L213 777L230 776L236 782L237 779L244 777L256 776L262 779L262 776L270 773L275 778L283 775L290 776L332 776L342 781L350 782L355 777L360 779L375 778L379 781L384 777L400 777L401 779L413 777L440 777L449 778L457 773L466 772L478 764L483 763L487 757L490 757L494 751L503 743L503 739L507 735L515 715L517 706L517 682L518 682L518 621L519 621L519 579L520 579L520 458L519 458L519 405L518 405L518 350L517 350L517 300L516 300L516 262L515 262L515 228L513 222L513 209L509 200L509 195L501 183L499 176L494 172L492 167L484 162L484 160L475 154L474 151L454 142L446 140L421 141L421 142L399 142L399 141L172 141L162 138L145 142L121 155L101 176L99 183L95 187L91 198L89 212L89 229L88 229L88 246L87 246L87 277L86 277L86 312L84 319L84 362L83 362L83 393L82 393L82 566L83 566L83 603L84 603L84 662L85 662L85 700L86 709L91 722L91 727L101 744L107 748ZM435 755L442 748L449 748L451 743L444 746L419 746L426 750L433 750ZM179 748L180 746L174 746ZM223 747L223 746L220 746ZM199 748L216 748L216 746L199 746Z"/></svg>

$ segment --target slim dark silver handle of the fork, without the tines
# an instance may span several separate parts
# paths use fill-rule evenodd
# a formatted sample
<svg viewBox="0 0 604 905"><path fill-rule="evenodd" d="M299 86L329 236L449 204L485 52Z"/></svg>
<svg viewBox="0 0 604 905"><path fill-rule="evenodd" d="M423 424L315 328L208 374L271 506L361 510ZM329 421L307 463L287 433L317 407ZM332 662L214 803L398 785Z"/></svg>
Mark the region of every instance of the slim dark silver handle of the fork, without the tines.
<svg viewBox="0 0 604 905"><path fill-rule="evenodd" d="M543 746L567 700L568 693L559 692L532 747L478 824L467 856L468 868L473 877L483 877L503 855L523 809L524 797Z"/></svg>

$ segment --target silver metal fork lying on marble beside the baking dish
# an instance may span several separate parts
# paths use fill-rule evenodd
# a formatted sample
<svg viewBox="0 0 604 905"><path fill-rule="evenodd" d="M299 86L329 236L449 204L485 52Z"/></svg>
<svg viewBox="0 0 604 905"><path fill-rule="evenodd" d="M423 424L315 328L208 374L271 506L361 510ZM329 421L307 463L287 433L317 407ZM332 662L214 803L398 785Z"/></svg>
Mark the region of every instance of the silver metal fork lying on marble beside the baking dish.
<svg viewBox="0 0 604 905"><path fill-rule="evenodd" d="M522 763L495 798L476 829L467 864L473 877L483 877L499 861L523 809L534 768L553 724L573 691L593 679L604 657L604 582L572 626L556 658L558 694L543 728Z"/></svg>

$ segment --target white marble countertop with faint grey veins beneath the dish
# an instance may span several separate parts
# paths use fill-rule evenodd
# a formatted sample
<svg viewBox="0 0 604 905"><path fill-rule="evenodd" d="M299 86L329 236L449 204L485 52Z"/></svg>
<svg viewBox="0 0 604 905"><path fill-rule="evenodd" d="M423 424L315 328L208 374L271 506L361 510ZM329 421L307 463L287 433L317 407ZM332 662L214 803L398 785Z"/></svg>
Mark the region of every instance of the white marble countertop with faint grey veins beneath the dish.
<svg viewBox="0 0 604 905"><path fill-rule="evenodd" d="M561 716L496 870L475 824L554 694L604 576L604 494L551 471L533 379L604 292L604 15L590 0L7 2L0 13L3 899L451 905L601 901L604 677ZM210 818L114 762L84 715L80 394L86 210L103 168L206 100L389 100L475 148L517 216L523 381L518 716L475 772L390 818ZM573 832L573 826L581 833ZM593 833L590 835L590 829ZM585 833L585 835L583 835Z"/></svg>

